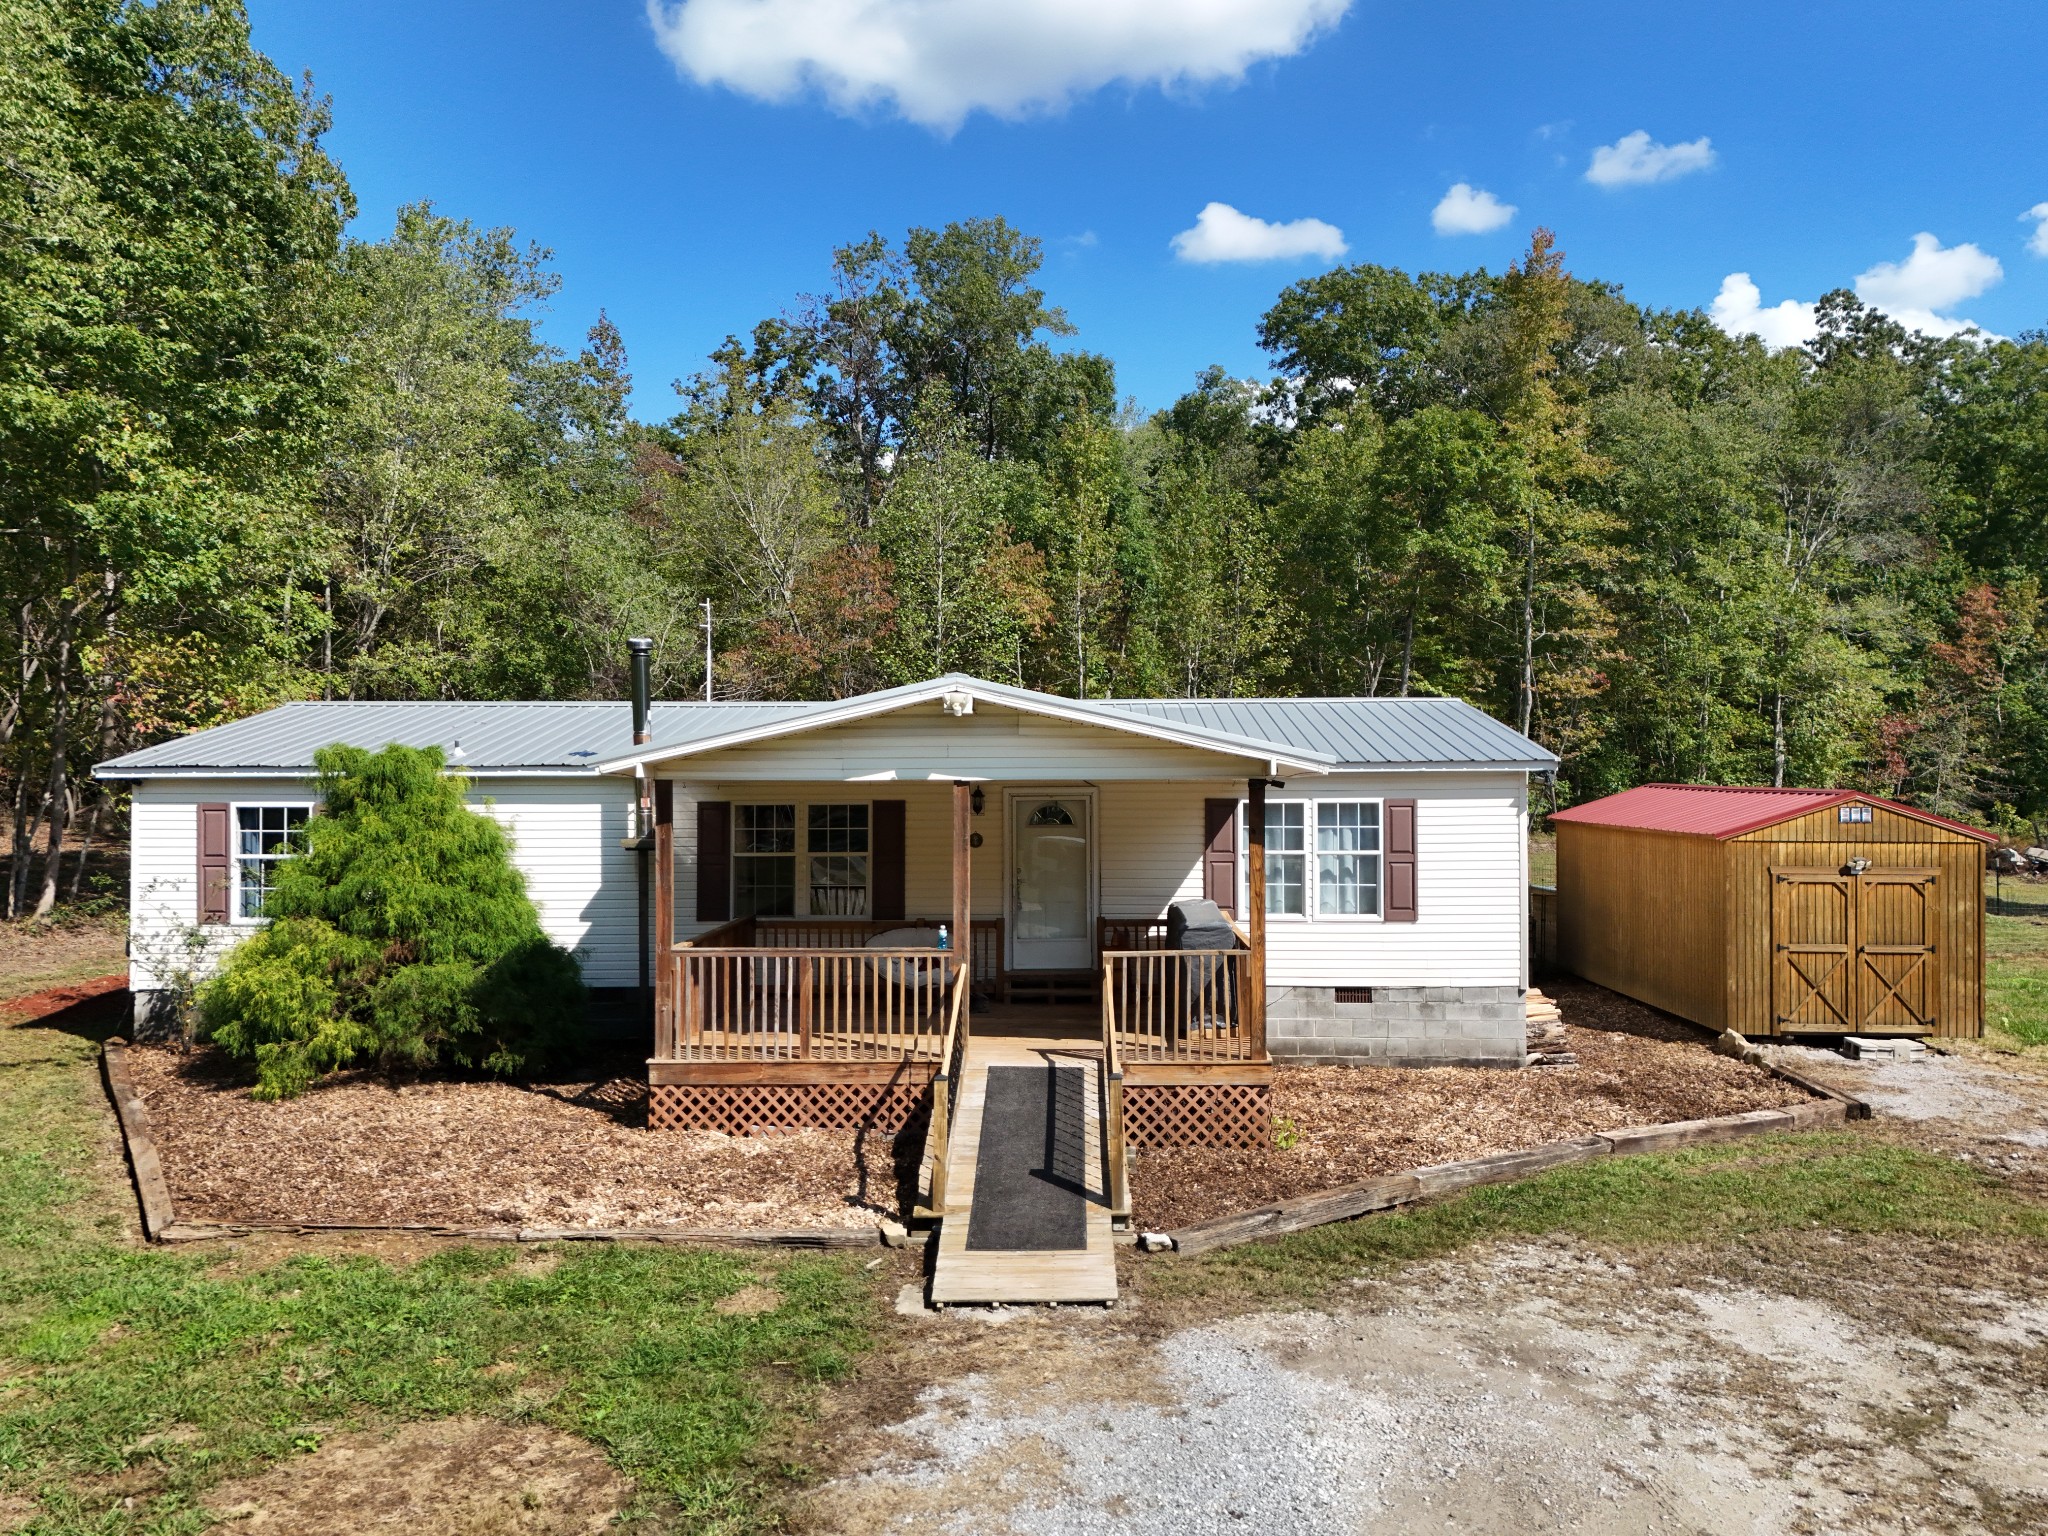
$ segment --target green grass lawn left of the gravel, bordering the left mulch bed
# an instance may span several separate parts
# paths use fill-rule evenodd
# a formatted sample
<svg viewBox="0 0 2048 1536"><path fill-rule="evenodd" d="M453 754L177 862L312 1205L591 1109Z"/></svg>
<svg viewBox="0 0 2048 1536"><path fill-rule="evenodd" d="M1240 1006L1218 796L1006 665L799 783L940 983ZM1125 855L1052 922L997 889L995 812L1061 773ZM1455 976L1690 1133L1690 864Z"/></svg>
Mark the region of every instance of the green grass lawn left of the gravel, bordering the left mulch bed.
<svg viewBox="0 0 2048 1536"><path fill-rule="evenodd" d="M596 1442L639 1485L629 1528L752 1530L750 1452L868 1341L877 1286L852 1257L481 1245L242 1268L141 1249L94 1051L0 1030L0 1489L37 1503L35 1536L199 1532L215 1483L338 1430L457 1413ZM780 1305L715 1311L748 1284Z"/></svg>

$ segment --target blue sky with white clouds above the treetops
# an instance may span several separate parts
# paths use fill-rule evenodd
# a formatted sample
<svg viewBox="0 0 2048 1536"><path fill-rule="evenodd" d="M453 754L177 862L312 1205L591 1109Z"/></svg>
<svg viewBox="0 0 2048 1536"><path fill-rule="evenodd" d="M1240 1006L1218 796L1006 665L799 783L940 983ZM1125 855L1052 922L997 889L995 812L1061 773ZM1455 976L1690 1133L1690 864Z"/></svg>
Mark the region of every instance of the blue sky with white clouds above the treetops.
<svg viewBox="0 0 2048 1536"><path fill-rule="evenodd" d="M604 307L649 420L727 332L821 289L836 244L997 213L1044 240L1077 344L1145 408L1210 362L1262 375L1260 313L1333 260L1501 268L1536 223L1575 272L1653 305L1718 297L1767 340L1858 279L1929 328L2048 326L2048 254L2030 248L2048 252L2042 0L672 0L659 27L639 0L250 14L256 45L334 98L354 233L434 199L549 246L551 338L575 346ZM1460 184L1448 227L1434 227ZM1245 260L1272 250L1292 254Z"/></svg>

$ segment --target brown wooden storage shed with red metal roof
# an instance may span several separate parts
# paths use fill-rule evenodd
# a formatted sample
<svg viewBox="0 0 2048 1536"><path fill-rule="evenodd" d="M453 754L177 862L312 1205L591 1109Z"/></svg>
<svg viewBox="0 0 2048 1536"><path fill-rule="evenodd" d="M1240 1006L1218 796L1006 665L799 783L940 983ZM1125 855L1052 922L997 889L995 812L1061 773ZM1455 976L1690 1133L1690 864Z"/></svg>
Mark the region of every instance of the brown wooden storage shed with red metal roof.
<svg viewBox="0 0 2048 1536"><path fill-rule="evenodd" d="M1559 967L1714 1030L1985 1026L1985 846L1831 788L1645 784L1559 811Z"/></svg>

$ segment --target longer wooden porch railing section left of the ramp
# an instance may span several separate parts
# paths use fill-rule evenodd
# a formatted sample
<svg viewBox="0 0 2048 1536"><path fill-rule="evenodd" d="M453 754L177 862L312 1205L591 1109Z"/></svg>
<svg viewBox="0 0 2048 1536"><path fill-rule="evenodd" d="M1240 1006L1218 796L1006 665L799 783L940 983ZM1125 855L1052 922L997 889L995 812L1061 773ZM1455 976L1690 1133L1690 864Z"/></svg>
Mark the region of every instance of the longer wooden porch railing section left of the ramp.
<svg viewBox="0 0 2048 1536"><path fill-rule="evenodd" d="M678 944L668 1061L934 1061L958 956L948 950ZM666 1047L666 1051L662 1049Z"/></svg>

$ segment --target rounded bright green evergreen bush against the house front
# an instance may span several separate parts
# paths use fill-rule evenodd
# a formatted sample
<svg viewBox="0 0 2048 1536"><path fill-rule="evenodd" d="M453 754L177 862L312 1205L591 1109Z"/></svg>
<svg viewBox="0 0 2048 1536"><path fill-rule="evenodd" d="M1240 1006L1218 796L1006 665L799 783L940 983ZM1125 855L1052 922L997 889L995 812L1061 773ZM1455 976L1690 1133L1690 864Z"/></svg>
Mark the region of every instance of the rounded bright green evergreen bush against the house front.
<svg viewBox="0 0 2048 1536"><path fill-rule="evenodd" d="M575 956L541 932L504 829L438 748L322 748L322 813L279 866L270 926L199 989L201 1030L260 1098L322 1073L453 1063L518 1073L582 1024Z"/></svg>

